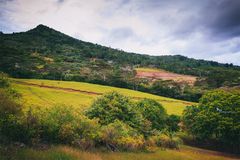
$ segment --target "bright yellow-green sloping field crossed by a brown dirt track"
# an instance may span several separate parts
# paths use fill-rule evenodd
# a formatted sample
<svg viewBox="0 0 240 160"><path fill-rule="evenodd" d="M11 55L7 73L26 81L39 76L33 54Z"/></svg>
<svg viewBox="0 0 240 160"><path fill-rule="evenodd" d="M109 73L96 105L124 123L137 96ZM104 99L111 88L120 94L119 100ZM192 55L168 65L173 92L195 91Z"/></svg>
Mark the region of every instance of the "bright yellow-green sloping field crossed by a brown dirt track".
<svg viewBox="0 0 240 160"><path fill-rule="evenodd" d="M133 100L139 100L142 98L155 99L166 108L169 114L181 115L185 106L194 104L192 102L156 96L129 89L83 82L36 79L12 79L12 81L13 87L23 95L25 104L31 107L49 107L53 104L67 104L79 107L80 109L86 109L91 105L94 99L100 96L98 94L104 94L111 91L117 91L121 94L132 97Z"/></svg>

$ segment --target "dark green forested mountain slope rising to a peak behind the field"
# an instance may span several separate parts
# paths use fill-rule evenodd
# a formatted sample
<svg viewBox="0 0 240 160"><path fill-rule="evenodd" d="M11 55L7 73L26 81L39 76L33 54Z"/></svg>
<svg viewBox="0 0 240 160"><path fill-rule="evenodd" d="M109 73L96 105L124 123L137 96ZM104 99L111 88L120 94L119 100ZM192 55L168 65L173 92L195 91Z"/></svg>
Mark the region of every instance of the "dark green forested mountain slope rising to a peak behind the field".
<svg viewBox="0 0 240 160"><path fill-rule="evenodd" d="M1 32L0 44L0 71L13 77L87 81L159 95L167 93L164 96L193 101L201 95L199 88L240 85L239 66L181 55L128 53L84 42L44 25L20 33ZM136 67L164 69L199 78L193 88L187 86L184 92L182 85L172 81L149 82L137 78Z"/></svg>

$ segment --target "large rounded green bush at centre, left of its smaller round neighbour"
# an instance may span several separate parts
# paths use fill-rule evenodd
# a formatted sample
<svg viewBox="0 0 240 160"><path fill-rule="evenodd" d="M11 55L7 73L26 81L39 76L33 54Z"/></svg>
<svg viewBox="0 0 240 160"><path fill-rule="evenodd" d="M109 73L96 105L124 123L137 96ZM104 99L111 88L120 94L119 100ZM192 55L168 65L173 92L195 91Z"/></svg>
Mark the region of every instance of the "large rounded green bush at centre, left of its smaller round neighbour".
<svg viewBox="0 0 240 160"><path fill-rule="evenodd" d="M144 121L135 103L117 92L107 93L98 98L87 111L87 116L98 118L101 125L120 120L136 129L140 129Z"/></svg>

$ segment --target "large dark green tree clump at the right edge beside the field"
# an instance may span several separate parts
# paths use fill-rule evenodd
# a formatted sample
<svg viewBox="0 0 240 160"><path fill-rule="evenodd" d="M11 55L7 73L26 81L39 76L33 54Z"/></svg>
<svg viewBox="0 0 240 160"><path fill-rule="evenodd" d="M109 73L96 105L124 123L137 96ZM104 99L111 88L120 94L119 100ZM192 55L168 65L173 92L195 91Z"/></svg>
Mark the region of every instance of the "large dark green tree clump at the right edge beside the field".
<svg viewBox="0 0 240 160"><path fill-rule="evenodd" d="M194 137L215 140L225 150L240 151L240 92L215 90L205 94L199 106L184 111L183 122Z"/></svg>

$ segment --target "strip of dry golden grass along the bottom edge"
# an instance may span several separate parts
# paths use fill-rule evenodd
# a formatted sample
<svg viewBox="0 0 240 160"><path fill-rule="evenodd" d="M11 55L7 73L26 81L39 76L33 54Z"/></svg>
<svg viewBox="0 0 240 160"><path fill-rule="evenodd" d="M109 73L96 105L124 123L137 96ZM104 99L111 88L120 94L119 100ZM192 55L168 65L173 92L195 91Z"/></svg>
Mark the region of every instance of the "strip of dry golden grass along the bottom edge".
<svg viewBox="0 0 240 160"><path fill-rule="evenodd" d="M183 146L181 150L161 150L155 153L144 152L84 152L67 146L51 147L47 150L18 149L9 152L6 160L234 160L239 157L225 155L219 152Z"/></svg>

